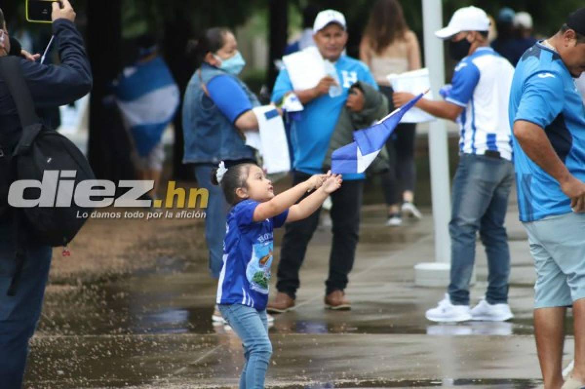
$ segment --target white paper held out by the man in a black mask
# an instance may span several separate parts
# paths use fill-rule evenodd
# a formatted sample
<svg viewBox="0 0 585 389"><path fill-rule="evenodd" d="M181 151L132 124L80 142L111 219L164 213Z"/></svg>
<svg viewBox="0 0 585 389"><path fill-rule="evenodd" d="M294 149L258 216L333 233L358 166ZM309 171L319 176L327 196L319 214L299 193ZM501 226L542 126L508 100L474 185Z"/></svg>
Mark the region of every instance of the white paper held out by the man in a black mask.
<svg viewBox="0 0 585 389"><path fill-rule="evenodd" d="M431 80L429 79L429 70L424 68L420 70L408 71L402 74L390 74L387 76L394 91L410 92L413 95L421 94L428 90L424 98L432 100ZM435 120L435 116L429 115L417 107L411 108L402 116L401 123L423 123Z"/></svg>

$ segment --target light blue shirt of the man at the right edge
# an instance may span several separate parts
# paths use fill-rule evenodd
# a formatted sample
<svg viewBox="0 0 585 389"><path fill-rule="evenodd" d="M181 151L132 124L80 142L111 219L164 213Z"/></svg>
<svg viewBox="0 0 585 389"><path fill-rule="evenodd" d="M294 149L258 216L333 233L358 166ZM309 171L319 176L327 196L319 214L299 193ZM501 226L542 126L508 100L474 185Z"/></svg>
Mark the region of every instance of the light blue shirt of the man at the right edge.
<svg viewBox="0 0 585 389"><path fill-rule="evenodd" d="M510 93L510 125L543 128L570 173L585 181L585 106L559 54L536 43L518 62ZM558 181L529 159L514 137L518 208L522 222L572 212Z"/></svg>

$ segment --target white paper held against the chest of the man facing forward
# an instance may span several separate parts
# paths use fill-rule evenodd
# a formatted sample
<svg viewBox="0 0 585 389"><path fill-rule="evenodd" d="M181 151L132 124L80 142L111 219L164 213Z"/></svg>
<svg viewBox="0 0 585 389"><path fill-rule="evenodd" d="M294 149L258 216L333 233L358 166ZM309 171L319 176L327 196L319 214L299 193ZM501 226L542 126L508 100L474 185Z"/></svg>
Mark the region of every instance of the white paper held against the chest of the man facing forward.
<svg viewBox="0 0 585 389"><path fill-rule="evenodd" d="M315 87L325 77L325 61L315 46L283 57L292 87L304 90Z"/></svg>

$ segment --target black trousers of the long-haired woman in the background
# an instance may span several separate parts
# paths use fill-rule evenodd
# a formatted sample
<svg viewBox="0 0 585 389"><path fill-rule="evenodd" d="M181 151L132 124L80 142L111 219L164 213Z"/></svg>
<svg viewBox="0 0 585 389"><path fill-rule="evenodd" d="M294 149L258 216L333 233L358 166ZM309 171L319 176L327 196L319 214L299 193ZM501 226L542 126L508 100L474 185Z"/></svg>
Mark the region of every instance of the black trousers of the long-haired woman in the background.
<svg viewBox="0 0 585 389"><path fill-rule="evenodd" d="M392 105L392 88L380 85L380 91L386 95ZM380 178L384 199L388 205L400 204L403 192L414 192L417 181L417 169L414 163L416 140L416 123L400 123L386 142L390 170L382 174Z"/></svg>

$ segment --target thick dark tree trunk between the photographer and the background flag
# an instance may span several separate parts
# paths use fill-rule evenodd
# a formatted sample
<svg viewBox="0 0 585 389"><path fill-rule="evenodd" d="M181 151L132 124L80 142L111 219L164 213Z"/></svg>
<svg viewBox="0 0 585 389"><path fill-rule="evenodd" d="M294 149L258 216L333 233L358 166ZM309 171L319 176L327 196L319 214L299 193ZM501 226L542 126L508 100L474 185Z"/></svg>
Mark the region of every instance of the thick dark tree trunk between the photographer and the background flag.
<svg viewBox="0 0 585 389"><path fill-rule="evenodd" d="M134 178L130 142L115 104L104 103L121 71L121 2L87 2L87 47L94 77L90 97L88 159L102 180Z"/></svg>

